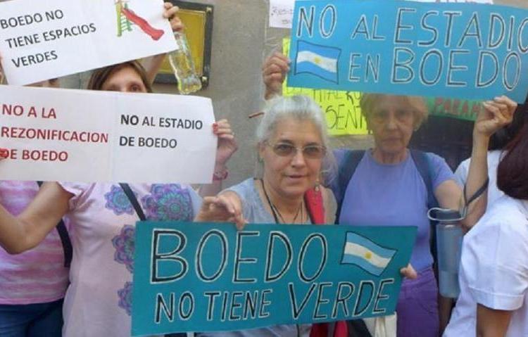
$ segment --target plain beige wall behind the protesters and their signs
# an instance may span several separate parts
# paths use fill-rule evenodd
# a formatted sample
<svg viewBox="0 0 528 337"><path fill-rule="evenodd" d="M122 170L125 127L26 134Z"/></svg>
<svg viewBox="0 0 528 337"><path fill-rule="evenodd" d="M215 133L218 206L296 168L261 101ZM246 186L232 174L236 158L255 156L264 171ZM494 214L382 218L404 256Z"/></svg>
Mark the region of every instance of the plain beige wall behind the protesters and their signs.
<svg viewBox="0 0 528 337"><path fill-rule="evenodd" d="M268 28L268 0L196 2L215 6L210 86L201 95L213 99L216 117L229 118L237 132L239 151L230 162L227 182L231 184L253 174L253 133L258 121L249 120L247 115L258 111L263 101L260 66L265 56L279 48L282 37L287 36L289 30ZM496 0L496 3L528 8L528 0ZM86 80L86 74L71 76L63 80L63 85L83 87ZM172 86L156 85L155 89L176 94ZM340 137L334 139L334 143L365 148L370 141L364 137Z"/></svg>

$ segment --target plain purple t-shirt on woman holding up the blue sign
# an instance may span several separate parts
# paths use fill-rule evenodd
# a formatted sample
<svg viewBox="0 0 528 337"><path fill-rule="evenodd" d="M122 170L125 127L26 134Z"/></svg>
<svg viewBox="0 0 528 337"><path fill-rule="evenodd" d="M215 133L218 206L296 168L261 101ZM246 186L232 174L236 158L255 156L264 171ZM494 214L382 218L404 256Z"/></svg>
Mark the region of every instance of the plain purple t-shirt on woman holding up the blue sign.
<svg viewBox="0 0 528 337"><path fill-rule="evenodd" d="M343 150L336 151L338 164L344 153ZM427 153L427 156L432 168L433 189L448 179L454 179L444 158L434 153ZM339 224L416 226L418 234L410 263L419 272L432 265L427 187L410 153L401 163L380 164L372 158L371 151L365 151L346 187Z"/></svg>

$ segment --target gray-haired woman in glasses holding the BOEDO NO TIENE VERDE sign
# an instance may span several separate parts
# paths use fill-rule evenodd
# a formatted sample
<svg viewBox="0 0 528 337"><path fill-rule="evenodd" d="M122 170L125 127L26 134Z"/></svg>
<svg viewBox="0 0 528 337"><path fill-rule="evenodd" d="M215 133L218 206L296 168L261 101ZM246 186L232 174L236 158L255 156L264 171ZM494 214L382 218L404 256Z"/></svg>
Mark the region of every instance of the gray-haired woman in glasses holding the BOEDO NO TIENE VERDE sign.
<svg viewBox="0 0 528 337"><path fill-rule="evenodd" d="M206 197L196 221L262 224L333 223L332 192L320 179L334 163L328 151L327 127L317 103L306 96L278 97L268 101L256 132L262 178L250 178L217 197ZM322 192L324 219L309 212L305 193ZM412 268L402 273L413 276ZM248 331L201 333L200 336L308 336L310 326L275 325Z"/></svg>

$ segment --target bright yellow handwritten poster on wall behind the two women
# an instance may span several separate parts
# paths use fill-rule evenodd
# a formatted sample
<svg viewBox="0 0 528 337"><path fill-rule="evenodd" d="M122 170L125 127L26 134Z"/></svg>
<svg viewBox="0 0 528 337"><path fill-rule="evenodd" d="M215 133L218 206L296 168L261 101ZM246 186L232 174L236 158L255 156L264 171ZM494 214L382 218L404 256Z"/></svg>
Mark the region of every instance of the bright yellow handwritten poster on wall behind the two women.
<svg viewBox="0 0 528 337"><path fill-rule="evenodd" d="M282 51L289 52L289 38L283 39ZM306 95L319 103L328 125L331 136L347 134L368 134L367 122L361 115L359 102L361 94L352 91L321 90L288 87L287 81L282 84L284 96Z"/></svg>

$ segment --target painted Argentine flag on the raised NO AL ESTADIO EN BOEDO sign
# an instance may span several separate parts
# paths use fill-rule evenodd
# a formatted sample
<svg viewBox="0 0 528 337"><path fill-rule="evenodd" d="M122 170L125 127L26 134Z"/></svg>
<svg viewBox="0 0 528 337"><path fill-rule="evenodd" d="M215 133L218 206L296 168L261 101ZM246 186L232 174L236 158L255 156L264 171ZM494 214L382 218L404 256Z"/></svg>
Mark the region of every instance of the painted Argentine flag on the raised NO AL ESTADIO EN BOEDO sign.
<svg viewBox="0 0 528 337"><path fill-rule="evenodd" d="M341 49L298 40L295 74L307 72L339 84L337 61L340 54Z"/></svg>

